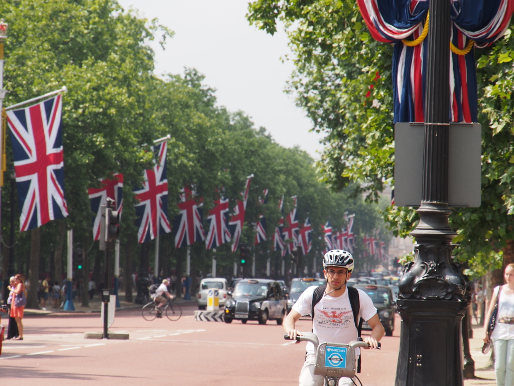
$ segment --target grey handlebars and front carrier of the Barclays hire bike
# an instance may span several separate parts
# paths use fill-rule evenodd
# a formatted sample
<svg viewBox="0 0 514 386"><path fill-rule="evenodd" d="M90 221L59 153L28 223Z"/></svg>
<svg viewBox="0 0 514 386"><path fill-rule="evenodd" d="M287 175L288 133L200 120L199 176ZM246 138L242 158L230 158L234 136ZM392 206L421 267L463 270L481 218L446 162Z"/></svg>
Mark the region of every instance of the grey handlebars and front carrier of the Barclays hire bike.
<svg viewBox="0 0 514 386"><path fill-rule="evenodd" d="M289 339L286 335L284 339ZM355 348L369 347L363 341L354 340L348 344L341 343L319 343L318 337L313 332L302 332L296 338L299 342L310 342L316 350L316 362L314 374L325 378L325 385L337 386L339 379L343 377L353 378L355 376ZM378 343L380 348L380 343Z"/></svg>

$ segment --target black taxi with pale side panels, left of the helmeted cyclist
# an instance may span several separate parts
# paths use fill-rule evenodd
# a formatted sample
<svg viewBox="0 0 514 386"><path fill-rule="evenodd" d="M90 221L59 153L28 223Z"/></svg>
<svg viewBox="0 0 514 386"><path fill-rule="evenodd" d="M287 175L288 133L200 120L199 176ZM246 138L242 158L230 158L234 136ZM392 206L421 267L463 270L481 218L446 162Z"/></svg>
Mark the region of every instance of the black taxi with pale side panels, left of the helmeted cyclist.
<svg viewBox="0 0 514 386"><path fill-rule="evenodd" d="M282 324L286 315L287 302L282 286L275 280L242 279L234 287L232 299L225 304L225 323L234 319L246 323L257 320L266 324L276 320Z"/></svg>

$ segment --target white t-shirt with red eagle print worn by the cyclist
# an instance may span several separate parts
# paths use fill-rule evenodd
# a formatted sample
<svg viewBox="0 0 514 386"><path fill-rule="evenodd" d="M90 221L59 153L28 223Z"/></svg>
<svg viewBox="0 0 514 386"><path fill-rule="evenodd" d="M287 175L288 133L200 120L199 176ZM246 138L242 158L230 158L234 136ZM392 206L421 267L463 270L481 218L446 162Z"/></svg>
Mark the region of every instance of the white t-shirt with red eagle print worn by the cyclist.
<svg viewBox="0 0 514 386"><path fill-rule="evenodd" d="M312 310L313 294L317 287L308 287L299 297L292 309L300 315L310 315ZM359 315L365 321L370 320L377 313L370 296L359 291L360 310ZM313 332L320 343L350 343L357 340L358 332L355 327L352 305L348 298L348 290L338 297L326 295L314 307ZM307 343L307 354L315 354L314 345ZM360 348L355 349L355 354L360 355Z"/></svg>

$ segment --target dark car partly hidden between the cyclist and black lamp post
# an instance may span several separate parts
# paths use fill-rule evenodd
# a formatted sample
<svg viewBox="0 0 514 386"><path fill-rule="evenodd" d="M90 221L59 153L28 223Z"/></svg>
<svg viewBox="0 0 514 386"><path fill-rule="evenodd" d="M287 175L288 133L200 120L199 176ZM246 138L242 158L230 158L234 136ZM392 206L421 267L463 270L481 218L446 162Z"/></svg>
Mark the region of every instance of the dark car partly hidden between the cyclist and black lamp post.
<svg viewBox="0 0 514 386"><path fill-rule="evenodd" d="M386 336L392 337L394 331L394 314L396 312L396 305L393 302L393 291L387 286L376 286L372 284L363 285L357 284L354 288L360 289L368 294L373 301L373 305L377 309L378 317L384 329ZM362 323L363 330L371 330L368 323Z"/></svg>

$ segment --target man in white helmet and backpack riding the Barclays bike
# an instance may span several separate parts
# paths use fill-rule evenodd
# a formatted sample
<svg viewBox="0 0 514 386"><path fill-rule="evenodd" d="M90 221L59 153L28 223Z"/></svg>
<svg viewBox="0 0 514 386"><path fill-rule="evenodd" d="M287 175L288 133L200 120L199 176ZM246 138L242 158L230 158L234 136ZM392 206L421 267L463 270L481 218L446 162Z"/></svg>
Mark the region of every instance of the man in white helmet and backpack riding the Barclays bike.
<svg viewBox="0 0 514 386"><path fill-rule="evenodd" d="M350 343L357 340L359 335L357 327L359 322L354 319L355 312L358 314L358 320L362 318L372 328L371 335L363 337L364 342L369 343L370 348L378 346L378 341L384 336L384 328L371 298L361 290L351 288L351 291L348 291L346 288L346 282L352 276L353 268L354 260L350 252L332 250L325 254L323 273L327 279L326 289L321 292L324 286L320 286L318 290L316 290L318 287L308 287L292 306L291 312L282 323L290 339L296 340L297 335L301 335L301 332L295 328L295 324L302 315L311 315L313 332L320 342ZM322 386L324 378L314 375L316 359L314 345L307 343L306 350L305 362L300 372L300 386ZM360 348L355 349L355 355L356 359L360 356ZM354 383L350 378L339 380L340 386L352 384Z"/></svg>

